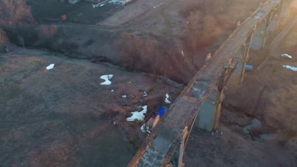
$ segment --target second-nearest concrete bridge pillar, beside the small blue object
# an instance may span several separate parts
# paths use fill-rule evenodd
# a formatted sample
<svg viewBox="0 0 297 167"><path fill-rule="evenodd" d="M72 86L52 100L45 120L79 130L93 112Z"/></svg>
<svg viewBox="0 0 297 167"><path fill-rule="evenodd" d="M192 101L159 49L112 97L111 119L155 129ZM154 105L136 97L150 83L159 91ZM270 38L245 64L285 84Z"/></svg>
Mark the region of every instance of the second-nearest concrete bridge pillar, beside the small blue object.
<svg viewBox="0 0 297 167"><path fill-rule="evenodd" d="M237 61L236 68L231 74L228 83L233 85L241 84L245 72L245 65L248 61L248 49L243 45L236 53L234 61Z"/></svg>

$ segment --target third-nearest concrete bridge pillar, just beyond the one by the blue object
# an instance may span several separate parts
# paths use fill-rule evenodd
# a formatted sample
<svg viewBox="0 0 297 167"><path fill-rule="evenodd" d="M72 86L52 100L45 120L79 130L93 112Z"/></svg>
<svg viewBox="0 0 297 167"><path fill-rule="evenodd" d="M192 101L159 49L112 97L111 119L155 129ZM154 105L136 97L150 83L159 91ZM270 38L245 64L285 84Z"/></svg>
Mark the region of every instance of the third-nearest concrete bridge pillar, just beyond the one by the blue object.
<svg viewBox="0 0 297 167"><path fill-rule="evenodd" d="M250 45L251 49L261 50L264 48L265 40L266 40L266 32L267 32L266 20L264 20L259 23L259 25L255 31L255 35L254 35L251 45Z"/></svg>

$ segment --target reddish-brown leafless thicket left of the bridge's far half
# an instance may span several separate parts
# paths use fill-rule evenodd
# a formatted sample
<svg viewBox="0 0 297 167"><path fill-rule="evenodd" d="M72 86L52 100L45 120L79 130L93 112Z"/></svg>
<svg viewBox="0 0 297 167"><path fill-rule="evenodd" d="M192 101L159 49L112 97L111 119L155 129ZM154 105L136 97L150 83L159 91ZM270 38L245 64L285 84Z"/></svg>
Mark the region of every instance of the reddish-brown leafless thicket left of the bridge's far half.
<svg viewBox="0 0 297 167"><path fill-rule="evenodd" d="M229 28L225 16L227 5L226 0L185 1L180 14L187 19L183 38L192 62L197 50L209 46Z"/></svg>

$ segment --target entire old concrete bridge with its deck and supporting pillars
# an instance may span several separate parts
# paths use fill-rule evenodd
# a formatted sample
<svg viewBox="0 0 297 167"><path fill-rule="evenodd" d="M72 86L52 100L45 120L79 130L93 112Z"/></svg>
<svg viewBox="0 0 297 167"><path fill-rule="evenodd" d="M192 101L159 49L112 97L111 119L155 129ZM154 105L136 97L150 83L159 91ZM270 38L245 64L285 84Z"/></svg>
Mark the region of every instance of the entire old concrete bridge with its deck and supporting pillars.
<svg viewBox="0 0 297 167"><path fill-rule="evenodd" d="M268 32L290 14L292 0L269 0L245 21L213 54L185 87L169 111L153 128L128 167L183 167L183 153L191 129L216 129L224 86L243 81L249 51L265 46Z"/></svg>

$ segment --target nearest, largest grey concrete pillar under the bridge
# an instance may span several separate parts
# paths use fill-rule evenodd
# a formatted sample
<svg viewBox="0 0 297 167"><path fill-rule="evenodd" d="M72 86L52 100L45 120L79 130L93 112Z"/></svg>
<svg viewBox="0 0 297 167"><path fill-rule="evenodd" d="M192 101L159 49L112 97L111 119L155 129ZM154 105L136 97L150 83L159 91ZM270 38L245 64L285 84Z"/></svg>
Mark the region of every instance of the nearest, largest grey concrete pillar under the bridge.
<svg viewBox="0 0 297 167"><path fill-rule="evenodd" d="M223 97L223 93L220 93L217 89L212 90L200 107L195 120L196 127L206 131L217 128Z"/></svg>

